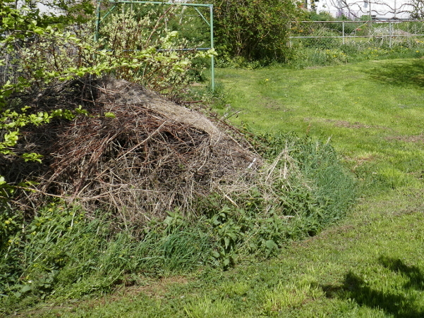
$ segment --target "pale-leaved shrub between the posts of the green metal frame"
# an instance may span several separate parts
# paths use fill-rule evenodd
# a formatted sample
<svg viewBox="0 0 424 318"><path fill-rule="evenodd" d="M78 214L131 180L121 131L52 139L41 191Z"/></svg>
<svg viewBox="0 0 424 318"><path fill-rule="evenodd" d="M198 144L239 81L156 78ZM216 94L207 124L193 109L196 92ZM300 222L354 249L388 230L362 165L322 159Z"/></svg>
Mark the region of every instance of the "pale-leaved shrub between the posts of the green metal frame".
<svg viewBox="0 0 424 318"><path fill-rule="evenodd" d="M212 50L178 51L190 45L199 47L201 42L188 44L188 40L180 37L177 30L172 30L178 29L176 25L170 25L171 28L159 27L164 20L172 18L173 24L176 24L175 15L180 9L166 8L159 17L156 17L155 11L147 11L144 16L139 16L135 10L112 13L102 21L100 28L102 48L109 50L110 54L99 56L97 63L119 62L119 66L111 70L117 78L138 82L170 96L178 94L183 87L201 76L205 58L214 54ZM197 71L192 71L191 61L195 61Z"/></svg>

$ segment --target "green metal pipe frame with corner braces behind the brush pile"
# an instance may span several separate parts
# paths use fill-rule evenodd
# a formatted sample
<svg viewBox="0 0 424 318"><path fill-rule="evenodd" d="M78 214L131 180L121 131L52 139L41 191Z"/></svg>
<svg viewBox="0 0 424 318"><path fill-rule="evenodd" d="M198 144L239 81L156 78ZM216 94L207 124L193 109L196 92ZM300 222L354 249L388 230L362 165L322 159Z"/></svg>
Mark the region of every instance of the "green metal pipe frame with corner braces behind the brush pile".
<svg viewBox="0 0 424 318"><path fill-rule="evenodd" d="M166 6L192 6L195 8L195 11L198 12L200 18L202 18L205 23L210 27L210 48L198 48L198 49L213 49L214 48L214 6L213 4L188 4L188 3L175 3L175 2L157 2L157 1L131 1L131 0L109 0L109 4L113 4L113 6L107 11L107 13L104 16L100 15L100 1L97 1L97 8L96 8L96 24L95 24L95 41L99 39L99 28L100 23L104 18L109 16L109 13L114 11L114 8L116 8L117 4L153 4L153 5L166 5ZM209 21L205 18L205 16L202 15L202 13L199 11L198 7L206 7L209 8L210 12L210 18ZM211 86L212 91L215 89L215 71L214 71L214 55L211 56Z"/></svg>

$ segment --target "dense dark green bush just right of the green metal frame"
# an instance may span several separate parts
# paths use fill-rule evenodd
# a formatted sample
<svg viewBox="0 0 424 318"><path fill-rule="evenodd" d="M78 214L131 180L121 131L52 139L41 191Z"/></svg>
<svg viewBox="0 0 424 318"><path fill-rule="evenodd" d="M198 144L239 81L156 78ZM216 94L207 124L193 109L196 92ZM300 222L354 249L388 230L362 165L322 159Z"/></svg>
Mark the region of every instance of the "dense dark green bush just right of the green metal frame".
<svg viewBox="0 0 424 318"><path fill-rule="evenodd" d="M288 25L301 15L292 1L214 0L214 27L219 52L248 61L289 57Z"/></svg>

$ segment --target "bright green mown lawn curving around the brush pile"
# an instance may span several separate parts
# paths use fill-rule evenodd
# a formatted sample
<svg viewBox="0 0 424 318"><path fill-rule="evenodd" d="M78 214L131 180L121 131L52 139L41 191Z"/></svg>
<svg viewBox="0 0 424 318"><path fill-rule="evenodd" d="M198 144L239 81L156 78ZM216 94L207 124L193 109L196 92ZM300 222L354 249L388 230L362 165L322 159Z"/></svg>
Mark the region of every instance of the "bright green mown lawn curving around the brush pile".
<svg viewBox="0 0 424 318"><path fill-rule="evenodd" d="M362 181L346 219L279 257L203 268L28 317L424 317L424 62L217 70L222 114L253 130L331 137ZM230 106L228 106L228 104ZM237 113L237 114L236 114Z"/></svg>

